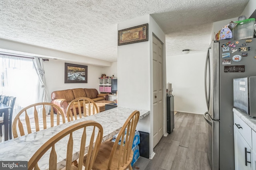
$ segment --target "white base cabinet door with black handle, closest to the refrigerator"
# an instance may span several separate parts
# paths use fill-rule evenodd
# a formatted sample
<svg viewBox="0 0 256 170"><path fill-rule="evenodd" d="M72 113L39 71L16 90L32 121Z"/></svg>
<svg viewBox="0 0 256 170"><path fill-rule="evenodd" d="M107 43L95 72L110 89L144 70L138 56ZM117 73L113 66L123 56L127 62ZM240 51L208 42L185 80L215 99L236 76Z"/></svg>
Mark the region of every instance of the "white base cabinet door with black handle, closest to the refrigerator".
<svg viewBox="0 0 256 170"><path fill-rule="evenodd" d="M252 149L246 143L242 135L238 132L234 125L234 147L235 147L235 169L236 170L252 170ZM246 153L247 150L247 153ZM246 165L247 162L247 165Z"/></svg>

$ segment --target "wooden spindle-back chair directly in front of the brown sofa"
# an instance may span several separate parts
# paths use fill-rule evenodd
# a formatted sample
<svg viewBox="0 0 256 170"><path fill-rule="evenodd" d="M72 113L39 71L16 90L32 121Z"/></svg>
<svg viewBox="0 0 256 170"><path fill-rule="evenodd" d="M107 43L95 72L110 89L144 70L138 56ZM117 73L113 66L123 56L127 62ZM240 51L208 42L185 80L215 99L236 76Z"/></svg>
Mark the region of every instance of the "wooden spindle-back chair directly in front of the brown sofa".
<svg viewBox="0 0 256 170"><path fill-rule="evenodd" d="M85 106L85 107L84 107ZM86 117L99 113L96 103L90 98L76 98L68 104L67 119L73 121L78 118ZM79 117L78 117L79 115Z"/></svg>

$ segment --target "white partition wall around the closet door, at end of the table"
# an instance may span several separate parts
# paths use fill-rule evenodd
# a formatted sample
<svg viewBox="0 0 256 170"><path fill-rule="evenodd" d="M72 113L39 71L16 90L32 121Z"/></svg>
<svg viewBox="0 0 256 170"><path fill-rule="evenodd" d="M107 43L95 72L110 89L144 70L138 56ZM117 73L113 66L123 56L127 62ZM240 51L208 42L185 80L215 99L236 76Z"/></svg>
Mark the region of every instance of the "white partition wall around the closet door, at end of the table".
<svg viewBox="0 0 256 170"><path fill-rule="evenodd" d="M150 115L139 121L137 128L150 133L153 131L153 71L152 71L152 35L153 33L165 43L165 34L149 16L142 16L118 24L118 30L136 25L149 24L148 41L118 46L118 107L150 110ZM164 77L165 45L164 45ZM164 78L164 84L165 84ZM165 115L164 111L164 115ZM166 128L164 128L166 129ZM150 133L150 158L153 152L153 134Z"/></svg>

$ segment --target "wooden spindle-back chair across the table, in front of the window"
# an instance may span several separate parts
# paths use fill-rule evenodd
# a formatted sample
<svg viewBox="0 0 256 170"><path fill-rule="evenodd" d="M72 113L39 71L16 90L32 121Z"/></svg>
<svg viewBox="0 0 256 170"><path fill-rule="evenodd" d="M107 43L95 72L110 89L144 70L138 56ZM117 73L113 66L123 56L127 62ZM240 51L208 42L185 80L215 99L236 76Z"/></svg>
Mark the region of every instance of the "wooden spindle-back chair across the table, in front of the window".
<svg viewBox="0 0 256 170"><path fill-rule="evenodd" d="M50 115L46 115L47 107L48 108L50 107ZM58 110L58 113L56 114L56 116L54 116L53 108ZM40 111L40 109L42 109L42 111ZM34 114L28 114L28 113L34 113ZM39 118L40 114L42 116L42 120ZM20 119L21 116L24 116L25 120L21 121ZM60 117L62 119L60 119ZM24 123L24 125L22 122ZM57 106L56 104L51 104L47 102L32 104L22 109L14 118L12 123L13 137L14 138L18 137L17 124L20 132L20 136L24 136L25 135L24 129L27 130L26 131L27 134L30 134L34 130L40 131L42 129L47 129L48 127L60 125L60 123L65 123L65 115L59 106Z"/></svg>

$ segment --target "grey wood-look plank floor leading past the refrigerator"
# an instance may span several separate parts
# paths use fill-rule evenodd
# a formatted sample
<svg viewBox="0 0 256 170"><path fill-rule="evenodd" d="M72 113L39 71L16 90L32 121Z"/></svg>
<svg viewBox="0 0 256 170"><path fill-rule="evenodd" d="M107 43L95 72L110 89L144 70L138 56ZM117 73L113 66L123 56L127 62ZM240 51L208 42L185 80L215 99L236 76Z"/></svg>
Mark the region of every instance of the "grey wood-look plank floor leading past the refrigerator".
<svg viewBox="0 0 256 170"><path fill-rule="evenodd" d="M174 130L162 137L152 160L140 157L140 170L211 170L208 162L208 126L203 115L177 112Z"/></svg>

